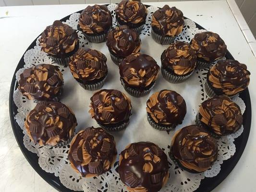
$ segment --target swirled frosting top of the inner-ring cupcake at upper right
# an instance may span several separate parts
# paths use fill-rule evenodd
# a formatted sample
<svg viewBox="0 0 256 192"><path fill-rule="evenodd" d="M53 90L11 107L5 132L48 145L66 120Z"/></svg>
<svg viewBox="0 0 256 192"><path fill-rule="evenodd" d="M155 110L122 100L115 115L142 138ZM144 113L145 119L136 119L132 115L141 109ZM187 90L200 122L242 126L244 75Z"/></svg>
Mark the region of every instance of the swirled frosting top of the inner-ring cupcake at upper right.
<svg viewBox="0 0 256 192"><path fill-rule="evenodd" d="M187 42L176 41L161 55L162 67L177 75L193 72L196 63L196 53Z"/></svg>

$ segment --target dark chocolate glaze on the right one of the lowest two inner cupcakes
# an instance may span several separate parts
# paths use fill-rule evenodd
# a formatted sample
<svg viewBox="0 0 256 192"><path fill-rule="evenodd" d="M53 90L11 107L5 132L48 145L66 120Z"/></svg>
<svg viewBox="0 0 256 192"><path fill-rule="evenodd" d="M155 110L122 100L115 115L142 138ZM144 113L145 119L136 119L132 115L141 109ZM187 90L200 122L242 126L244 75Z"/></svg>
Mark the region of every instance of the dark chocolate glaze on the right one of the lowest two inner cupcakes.
<svg viewBox="0 0 256 192"><path fill-rule="evenodd" d="M167 93L163 97L161 97L162 92L165 92L165 91L167 91ZM151 112L150 113L151 117L154 116L155 119L158 120L159 124L169 123L176 126L177 124L182 123L187 110L186 110L186 103L180 94L176 93L175 91L164 89L158 92L157 101L158 102L156 103L156 105L152 106L151 108L148 105L150 102L150 98L146 102L146 106L148 108L147 112L148 111ZM167 107L167 102L171 102L172 105L177 110L175 110L174 112L171 112L170 109ZM162 112L164 115L164 118L163 119L158 118L155 111Z"/></svg>

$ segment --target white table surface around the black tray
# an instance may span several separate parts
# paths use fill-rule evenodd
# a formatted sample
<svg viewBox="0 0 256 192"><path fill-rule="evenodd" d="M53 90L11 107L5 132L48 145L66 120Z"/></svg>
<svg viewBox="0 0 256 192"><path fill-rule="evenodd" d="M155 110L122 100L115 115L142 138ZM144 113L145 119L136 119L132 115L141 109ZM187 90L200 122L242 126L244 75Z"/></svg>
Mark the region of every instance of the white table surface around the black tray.
<svg viewBox="0 0 256 192"><path fill-rule="evenodd" d="M240 30L226 0L148 2L161 7L176 6L184 15L207 30L218 33L236 60L247 64L251 74L249 91L256 100L256 58ZM13 72L31 42L54 20L82 10L86 5L0 7L0 191L55 192L29 165L12 133L9 119L9 89ZM6 14L8 12L8 14ZM200 15L200 16L198 16ZM252 108L252 117L256 108ZM214 192L255 192L256 121L244 153L231 174Z"/></svg>

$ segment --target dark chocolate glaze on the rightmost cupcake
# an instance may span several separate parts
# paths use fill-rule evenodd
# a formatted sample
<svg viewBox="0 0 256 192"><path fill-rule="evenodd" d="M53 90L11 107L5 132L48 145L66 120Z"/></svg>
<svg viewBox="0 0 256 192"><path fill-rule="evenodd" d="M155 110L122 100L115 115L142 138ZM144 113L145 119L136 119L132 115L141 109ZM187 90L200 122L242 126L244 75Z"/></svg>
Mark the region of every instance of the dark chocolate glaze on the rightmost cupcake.
<svg viewBox="0 0 256 192"><path fill-rule="evenodd" d="M232 70L227 70L227 68L232 68ZM250 74L251 73L247 70L246 65L237 60L219 60L218 63L209 70L207 81L212 86L214 82L209 81L209 76L212 75L216 77L219 80L218 83L222 87L220 88L222 90L221 94L225 94L225 90L231 92L238 88L244 90L250 83ZM232 84L233 86L227 86L227 84ZM235 91L233 95L237 93L238 91Z"/></svg>

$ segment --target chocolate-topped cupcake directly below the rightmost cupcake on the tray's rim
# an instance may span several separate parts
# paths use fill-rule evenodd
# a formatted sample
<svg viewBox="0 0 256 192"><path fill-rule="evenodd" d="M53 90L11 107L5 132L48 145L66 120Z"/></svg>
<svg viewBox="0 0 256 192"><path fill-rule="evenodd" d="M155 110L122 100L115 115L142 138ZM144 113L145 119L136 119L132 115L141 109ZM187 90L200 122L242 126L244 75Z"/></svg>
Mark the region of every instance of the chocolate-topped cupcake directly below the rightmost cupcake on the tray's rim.
<svg viewBox="0 0 256 192"><path fill-rule="evenodd" d="M242 126L243 116L239 106L227 96L214 96L204 101L196 116L196 124L224 136L237 132Z"/></svg>

